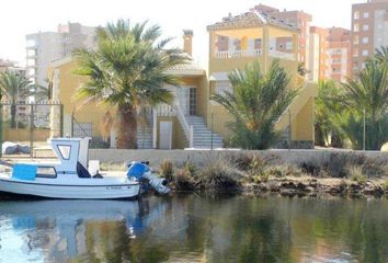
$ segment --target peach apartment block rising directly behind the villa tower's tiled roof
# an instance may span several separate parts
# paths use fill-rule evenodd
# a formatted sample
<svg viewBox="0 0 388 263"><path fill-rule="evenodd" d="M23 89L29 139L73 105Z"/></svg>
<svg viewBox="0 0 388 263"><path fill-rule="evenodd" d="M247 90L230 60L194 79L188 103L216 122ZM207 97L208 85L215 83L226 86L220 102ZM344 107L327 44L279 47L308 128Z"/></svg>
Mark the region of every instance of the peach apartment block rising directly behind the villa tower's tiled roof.
<svg viewBox="0 0 388 263"><path fill-rule="evenodd" d="M286 24L290 24L296 26L299 30L298 34L298 59L300 62L305 64L305 67L309 68L309 34L310 34L310 24L312 21L311 14L305 13L304 11L287 11L287 10L278 10L272 7L267 7L264 4L255 5L252 10L256 10L259 12L267 13L271 16L283 21ZM284 39L285 42L289 42L289 39Z"/></svg>

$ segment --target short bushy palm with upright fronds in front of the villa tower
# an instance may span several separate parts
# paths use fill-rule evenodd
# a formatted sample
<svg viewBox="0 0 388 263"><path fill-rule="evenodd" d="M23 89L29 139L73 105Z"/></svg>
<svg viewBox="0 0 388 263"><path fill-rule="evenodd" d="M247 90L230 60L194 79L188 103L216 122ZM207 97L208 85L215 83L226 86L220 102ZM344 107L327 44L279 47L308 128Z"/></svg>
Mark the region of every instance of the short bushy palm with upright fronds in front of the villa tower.
<svg viewBox="0 0 388 263"><path fill-rule="evenodd" d="M269 72L259 61L228 76L232 92L214 94L213 100L233 117L231 142L246 149L266 149L278 138L274 125L297 94L288 89L289 77L275 60Z"/></svg>

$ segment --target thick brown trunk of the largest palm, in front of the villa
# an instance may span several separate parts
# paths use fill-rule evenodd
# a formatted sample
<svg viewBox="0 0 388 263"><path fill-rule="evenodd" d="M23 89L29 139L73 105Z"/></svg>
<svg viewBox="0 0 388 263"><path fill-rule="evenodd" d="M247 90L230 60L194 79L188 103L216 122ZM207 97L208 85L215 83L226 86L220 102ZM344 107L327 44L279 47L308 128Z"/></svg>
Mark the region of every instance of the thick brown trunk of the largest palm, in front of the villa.
<svg viewBox="0 0 388 263"><path fill-rule="evenodd" d="M117 149L137 149L137 113L133 105L119 105Z"/></svg>

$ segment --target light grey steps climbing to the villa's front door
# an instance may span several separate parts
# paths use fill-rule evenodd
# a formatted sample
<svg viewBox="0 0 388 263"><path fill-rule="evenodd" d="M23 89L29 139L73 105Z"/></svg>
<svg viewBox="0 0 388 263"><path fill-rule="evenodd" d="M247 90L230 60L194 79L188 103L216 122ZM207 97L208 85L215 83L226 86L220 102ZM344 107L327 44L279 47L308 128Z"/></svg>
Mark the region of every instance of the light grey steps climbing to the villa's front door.
<svg viewBox="0 0 388 263"><path fill-rule="evenodd" d="M201 116L185 116L190 126L193 126L193 148L210 149L213 140L213 149L222 148L222 137L213 133L207 128L205 121Z"/></svg>

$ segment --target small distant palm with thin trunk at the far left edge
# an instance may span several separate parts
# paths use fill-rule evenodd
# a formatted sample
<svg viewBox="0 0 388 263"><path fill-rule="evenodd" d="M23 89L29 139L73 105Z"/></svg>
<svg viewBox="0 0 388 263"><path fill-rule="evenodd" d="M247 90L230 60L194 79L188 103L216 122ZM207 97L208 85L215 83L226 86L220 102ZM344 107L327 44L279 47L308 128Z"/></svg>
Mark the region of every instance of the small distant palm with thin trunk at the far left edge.
<svg viewBox="0 0 388 263"><path fill-rule="evenodd" d="M16 127L15 118L18 99L27 96L33 87L32 81L30 81L24 75L12 71L0 73L0 99L5 95L11 101L11 128Z"/></svg>

